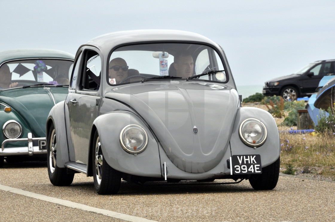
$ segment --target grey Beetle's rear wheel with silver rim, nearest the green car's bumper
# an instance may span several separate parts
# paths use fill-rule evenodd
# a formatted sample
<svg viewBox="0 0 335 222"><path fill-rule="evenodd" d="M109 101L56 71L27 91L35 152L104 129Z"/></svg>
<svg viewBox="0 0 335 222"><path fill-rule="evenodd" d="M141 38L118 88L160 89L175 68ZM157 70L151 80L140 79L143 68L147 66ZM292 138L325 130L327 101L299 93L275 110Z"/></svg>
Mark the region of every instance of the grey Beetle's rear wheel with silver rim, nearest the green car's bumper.
<svg viewBox="0 0 335 222"><path fill-rule="evenodd" d="M68 186L74 174L67 174L66 168L59 168L57 161L57 136L54 124L51 124L47 141L47 162L50 182L55 186Z"/></svg>

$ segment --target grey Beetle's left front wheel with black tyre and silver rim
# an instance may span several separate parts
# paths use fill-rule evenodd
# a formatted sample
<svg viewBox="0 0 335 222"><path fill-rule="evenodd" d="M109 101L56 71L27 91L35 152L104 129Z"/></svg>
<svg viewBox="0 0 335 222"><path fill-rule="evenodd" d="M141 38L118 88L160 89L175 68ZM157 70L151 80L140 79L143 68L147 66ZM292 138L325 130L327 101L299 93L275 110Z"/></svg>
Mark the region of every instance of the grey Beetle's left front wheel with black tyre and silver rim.
<svg viewBox="0 0 335 222"><path fill-rule="evenodd" d="M121 173L106 162L98 132L95 132L92 149L94 188L98 194L116 194L121 185Z"/></svg>

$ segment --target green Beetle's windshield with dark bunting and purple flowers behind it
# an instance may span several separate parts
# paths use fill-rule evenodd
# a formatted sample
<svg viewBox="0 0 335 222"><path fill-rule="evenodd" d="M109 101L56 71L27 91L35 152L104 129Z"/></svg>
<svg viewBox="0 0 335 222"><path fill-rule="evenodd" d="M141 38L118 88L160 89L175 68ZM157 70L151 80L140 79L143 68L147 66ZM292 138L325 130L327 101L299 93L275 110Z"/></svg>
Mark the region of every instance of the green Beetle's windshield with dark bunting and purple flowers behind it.
<svg viewBox="0 0 335 222"><path fill-rule="evenodd" d="M16 60L0 67L0 90L15 87L69 85L73 61L65 59Z"/></svg>

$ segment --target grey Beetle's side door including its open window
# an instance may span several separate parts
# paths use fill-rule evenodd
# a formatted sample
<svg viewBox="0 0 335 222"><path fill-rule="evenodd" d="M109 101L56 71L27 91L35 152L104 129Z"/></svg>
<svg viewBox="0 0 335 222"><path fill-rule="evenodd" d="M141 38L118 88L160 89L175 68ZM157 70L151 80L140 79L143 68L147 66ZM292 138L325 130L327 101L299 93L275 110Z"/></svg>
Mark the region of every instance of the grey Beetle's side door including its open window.
<svg viewBox="0 0 335 222"><path fill-rule="evenodd" d="M86 46L78 68L78 80L67 99L71 141L70 160L87 164L91 127L98 116L101 59L93 47ZM70 147L69 147L70 149Z"/></svg>

